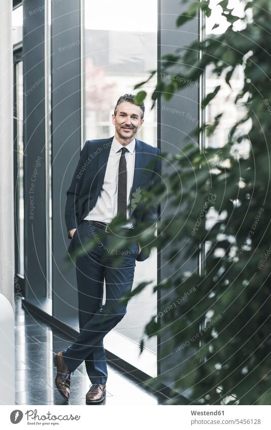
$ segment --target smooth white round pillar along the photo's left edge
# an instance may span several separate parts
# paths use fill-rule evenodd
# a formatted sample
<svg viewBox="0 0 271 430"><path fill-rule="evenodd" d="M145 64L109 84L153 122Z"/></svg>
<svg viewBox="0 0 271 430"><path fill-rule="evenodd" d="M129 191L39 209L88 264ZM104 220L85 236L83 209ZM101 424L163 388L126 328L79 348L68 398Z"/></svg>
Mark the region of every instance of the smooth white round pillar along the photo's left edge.
<svg viewBox="0 0 271 430"><path fill-rule="evenodd" d="M14 309L12 2L0 10L0 293Z"/></svg>

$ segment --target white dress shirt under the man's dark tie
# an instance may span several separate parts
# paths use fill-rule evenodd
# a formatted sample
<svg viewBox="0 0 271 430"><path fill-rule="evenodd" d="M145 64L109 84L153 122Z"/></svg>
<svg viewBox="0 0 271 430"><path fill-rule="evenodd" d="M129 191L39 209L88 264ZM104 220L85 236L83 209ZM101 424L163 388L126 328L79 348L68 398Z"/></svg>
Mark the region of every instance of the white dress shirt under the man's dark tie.
<svg viewBox="0 0 271 430"><path fill-rule="evenodd" d="M114 137L110 148L109 158L106 167L104 183L101 186L101 192L98 196L94 208L84 218L86 220L102 221L110 223L117 215L118 210L118 172L121 157L121 149L127 148L125 152L126 169L127 169L127 206L130 200L130 192L134 174L134 160L136 158L136 139L133 139L128 145L121 145ZM126 213L129 220L129 212ZM131 221L128 221L123 227L132 228Z"/></svg>

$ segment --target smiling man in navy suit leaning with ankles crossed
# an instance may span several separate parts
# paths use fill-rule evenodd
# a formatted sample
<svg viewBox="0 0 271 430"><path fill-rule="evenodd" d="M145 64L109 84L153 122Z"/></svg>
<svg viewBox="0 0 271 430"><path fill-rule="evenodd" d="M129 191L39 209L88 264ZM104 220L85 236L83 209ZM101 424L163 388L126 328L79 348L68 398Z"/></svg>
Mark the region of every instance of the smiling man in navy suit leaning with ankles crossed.
<svg viewBox="0 0 271 430"><path fill-rule="evenodd" d="M53 357L55 384L65 400L70 398L71 373L83 361L91 381L86 403L105 399L108 373L103 339L126 313L126 305L119 299L131 291L136 260L149 256L132 239L116 264L116 237L109 225L120 215L120 231L127 232L143 224L155 225L158 217L157 205L146 210L146 203L141 203L137 195L141 189L149 191L156 186L161 170L160 149L136 138L144 123L144 110L144 103L137 105L132 94L118 99L112 114L115 135L86 141L67 190L65 222L71 239L67 251L70 254L81 247L83 252L75 260L80 333L72 345ZM133 196L137 204L131 204ZM103 241L94 240L94 246L88 249L81 246L101 237Z"/></svg>

